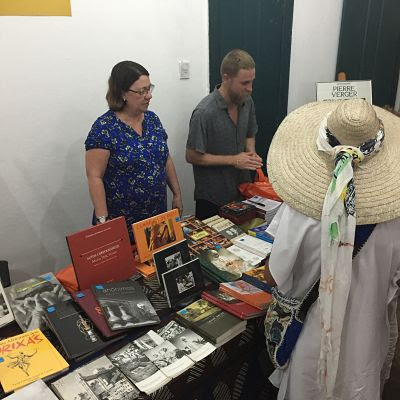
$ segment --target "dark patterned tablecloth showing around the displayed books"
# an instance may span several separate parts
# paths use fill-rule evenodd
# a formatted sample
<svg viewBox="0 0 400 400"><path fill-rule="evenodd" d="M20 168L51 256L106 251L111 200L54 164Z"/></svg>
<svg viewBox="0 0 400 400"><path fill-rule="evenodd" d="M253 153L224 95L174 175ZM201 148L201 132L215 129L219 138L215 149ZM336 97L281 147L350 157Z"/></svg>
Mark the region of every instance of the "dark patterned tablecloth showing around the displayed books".
<svg viewBox="0 0 400 400"><path fill-rule="evenodd" d="M169 322L173 312L168 308L163 292L156 280L141 280L144 292L160 316L162 324ZM141 393L141 400L273 400L276 389L269 383L273 367L265 352L264 317L249 320L240 335L218 348L192 368L173 379L151 396ZM129 335L112 343L103 353L110 354L128 342L158 326L133 329ZM0 338L21 333L14 322L0 329ZM51 332L46 335L64 355L61 345ZM71 361L75 369L93 360L95 354L79 363ZM58 378L57 378L58 379ZM0 393L0 399L4 398Z"/></svg>

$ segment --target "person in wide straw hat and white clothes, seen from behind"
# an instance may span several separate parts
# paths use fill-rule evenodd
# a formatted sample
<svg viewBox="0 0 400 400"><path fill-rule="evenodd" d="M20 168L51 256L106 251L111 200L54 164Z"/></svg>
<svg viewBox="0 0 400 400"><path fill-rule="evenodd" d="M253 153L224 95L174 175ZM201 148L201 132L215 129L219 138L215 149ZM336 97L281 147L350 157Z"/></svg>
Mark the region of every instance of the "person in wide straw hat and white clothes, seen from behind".
<svg viewBox="0 0 400 400"><path fill-rule="evenodd" d="M289 363L270 376L278 399L379 399L397 340L400 120L361 99L307 104L278 128L267 170L284 200L271 279L296 299L320 279Z"/></svg>

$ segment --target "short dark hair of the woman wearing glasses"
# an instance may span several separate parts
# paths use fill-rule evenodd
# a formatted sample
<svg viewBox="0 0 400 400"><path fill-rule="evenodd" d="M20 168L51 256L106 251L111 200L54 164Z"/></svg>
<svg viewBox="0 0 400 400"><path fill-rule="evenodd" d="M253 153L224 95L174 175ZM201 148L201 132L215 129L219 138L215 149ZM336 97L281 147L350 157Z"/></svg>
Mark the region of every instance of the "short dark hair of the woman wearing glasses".
<svg viewBox="0 0 400 400"><path fill-rule="evenodd" d="M106 94L110 110L121 111L124 108L123 93L128 91L132 83L136 82L142 75L149 76L149 72L145 67L133 61L121 61L114 65L108 79Z"/></svg>

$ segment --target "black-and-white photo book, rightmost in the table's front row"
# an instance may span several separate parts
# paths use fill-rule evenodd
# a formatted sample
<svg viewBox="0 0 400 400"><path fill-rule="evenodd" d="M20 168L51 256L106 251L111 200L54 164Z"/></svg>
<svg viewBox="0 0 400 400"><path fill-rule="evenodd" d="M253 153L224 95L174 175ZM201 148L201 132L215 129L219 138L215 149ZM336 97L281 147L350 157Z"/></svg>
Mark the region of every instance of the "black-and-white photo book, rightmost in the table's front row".
<svg viewBox="0 0 400 400"><path fill-rule="evenodd" d="M195 362L207 357L216 349L200 335L175 321L171 321L157 332L163 339L169 340L176 348L184 351Z"/></svg>

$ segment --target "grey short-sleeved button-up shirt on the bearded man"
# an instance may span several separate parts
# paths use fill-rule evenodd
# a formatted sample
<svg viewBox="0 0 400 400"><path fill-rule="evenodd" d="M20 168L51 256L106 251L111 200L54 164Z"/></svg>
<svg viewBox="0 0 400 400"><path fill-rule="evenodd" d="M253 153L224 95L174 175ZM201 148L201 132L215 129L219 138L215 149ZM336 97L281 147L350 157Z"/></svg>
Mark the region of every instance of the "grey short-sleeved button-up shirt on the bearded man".
<svg viewBox="0 0 400 400"><path fill-rule="evenodd" d="M228 114L228 105L218 87L193 111L186 148L215 155L235 155L246 151L246 139L257 133L253 99L248 97L239 107L237 125ZM240 199L237 187L250 181L250 173L232 166L193 165L194 198L218 206Z"/></svg>

